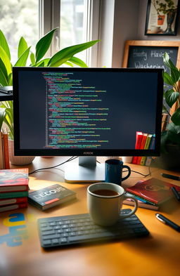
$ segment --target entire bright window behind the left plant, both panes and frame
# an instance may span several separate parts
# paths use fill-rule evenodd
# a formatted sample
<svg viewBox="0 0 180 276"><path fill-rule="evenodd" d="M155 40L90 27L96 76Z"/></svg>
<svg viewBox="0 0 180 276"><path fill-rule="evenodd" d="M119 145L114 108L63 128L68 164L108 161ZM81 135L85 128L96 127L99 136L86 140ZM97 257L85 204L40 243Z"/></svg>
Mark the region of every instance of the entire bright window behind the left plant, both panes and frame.
<svg viewBox="0 0 180 276"><path fill-rule="evenodd" d="M34 51L39 37L56 27L47 56L61 48L98 39L100 4L101 0L1 0L0 29L10 45L11 63L17 60L20 37ZM97 53L96 44L77 56L96 67Z"/></svg>

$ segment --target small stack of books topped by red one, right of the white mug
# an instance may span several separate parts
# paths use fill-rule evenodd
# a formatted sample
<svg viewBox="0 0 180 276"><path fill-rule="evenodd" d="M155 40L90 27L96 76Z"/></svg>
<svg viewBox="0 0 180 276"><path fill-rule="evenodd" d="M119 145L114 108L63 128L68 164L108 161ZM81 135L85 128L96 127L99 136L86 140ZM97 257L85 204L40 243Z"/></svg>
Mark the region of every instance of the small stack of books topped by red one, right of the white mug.
<svg viewBox="0 0 180 276"><path fill-rule="evenodd" d="M150 178L140 180L136 185L127 188L126 191L139 200L139 207L158 210L163 203L174 197L172 187L180 192L180 187L176 185L158 178ZM132 205L131 200L126 200L123 203Z"/></svg>

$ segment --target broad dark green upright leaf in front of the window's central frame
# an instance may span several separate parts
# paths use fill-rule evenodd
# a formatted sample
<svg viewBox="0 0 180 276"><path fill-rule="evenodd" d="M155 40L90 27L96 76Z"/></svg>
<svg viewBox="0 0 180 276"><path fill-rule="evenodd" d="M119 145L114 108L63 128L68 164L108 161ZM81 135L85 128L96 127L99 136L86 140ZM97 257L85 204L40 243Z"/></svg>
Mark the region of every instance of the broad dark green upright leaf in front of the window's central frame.
<svg viewBox="0 0 180 276"><path fill-rule="evenodd" d="M56 28L57 29L57 28ZM44 57L46 51L48 51L49 46L51 45L51 41L53 39L53 34L56 29L52 29L49 33L47 33L44 37L39 39L36 45L36 63Z"/></svg>

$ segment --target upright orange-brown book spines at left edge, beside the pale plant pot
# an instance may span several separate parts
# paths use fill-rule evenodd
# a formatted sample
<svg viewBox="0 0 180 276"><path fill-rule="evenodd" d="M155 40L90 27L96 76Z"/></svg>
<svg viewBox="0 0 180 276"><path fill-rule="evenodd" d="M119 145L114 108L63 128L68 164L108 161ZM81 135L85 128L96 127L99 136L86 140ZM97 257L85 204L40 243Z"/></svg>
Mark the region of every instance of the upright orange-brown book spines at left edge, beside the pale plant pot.
<svg viewBox="0 0 180 276"><path fill-rule="evenodd" d="M6 129L0 131L0 169L9 169L8 133Z"/></svg>

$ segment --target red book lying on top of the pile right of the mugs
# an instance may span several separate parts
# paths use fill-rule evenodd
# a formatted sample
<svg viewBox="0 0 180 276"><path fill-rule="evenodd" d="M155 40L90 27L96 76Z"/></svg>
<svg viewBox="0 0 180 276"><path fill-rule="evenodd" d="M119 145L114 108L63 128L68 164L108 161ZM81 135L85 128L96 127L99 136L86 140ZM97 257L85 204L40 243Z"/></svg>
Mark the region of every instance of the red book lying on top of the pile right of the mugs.
<svg viewBox="0 0 180 276"><path fill-rule="evenodd" d="M162 204L174 197L171 188L175 187L180 192L180 187L170 184L168 182L159 180L157 178L150 178L148 180L140 180L136 185L127 188L127 192L133 195L142 197L143 199L153 202L155 204Z"/></svg>

